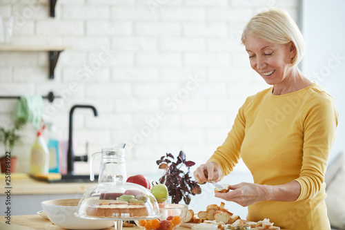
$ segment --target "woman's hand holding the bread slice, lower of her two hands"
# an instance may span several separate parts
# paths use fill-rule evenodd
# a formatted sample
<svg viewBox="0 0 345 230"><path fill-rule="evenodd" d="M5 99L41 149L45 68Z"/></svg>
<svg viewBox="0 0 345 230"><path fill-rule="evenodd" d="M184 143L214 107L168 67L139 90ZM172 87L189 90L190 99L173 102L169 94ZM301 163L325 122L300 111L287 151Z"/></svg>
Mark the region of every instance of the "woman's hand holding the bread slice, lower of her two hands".
<svg viewBox="0 0 345 230"><path fill-rule="evenodd" d="M228 193L215 193L216 198L233 201L237 204L246 207L256 202L269 200L268 186L261 184L253 184L242 182L230 186Z"/></svg>

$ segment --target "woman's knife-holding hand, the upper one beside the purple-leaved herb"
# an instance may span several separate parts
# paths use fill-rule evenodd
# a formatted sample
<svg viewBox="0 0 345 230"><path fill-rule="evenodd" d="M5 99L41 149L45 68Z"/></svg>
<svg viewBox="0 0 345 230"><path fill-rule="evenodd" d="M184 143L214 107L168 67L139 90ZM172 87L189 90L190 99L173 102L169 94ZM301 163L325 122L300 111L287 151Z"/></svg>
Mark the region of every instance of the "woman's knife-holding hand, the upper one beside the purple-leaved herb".
<svg viewBox="0 0 345 230"><path fill-rule="evenodd" d="M218 182L221 176L221 168L216 162L201 164L194 172L194 178L198 183L210 182L210 180Z"/></svg>

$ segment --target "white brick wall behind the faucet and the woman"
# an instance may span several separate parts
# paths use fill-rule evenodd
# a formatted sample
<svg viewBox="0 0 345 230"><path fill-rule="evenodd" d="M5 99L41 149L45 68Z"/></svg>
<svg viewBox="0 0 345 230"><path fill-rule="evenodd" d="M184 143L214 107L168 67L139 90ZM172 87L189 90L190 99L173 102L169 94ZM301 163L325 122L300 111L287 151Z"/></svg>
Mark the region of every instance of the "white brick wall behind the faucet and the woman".
<svg viewBox="0 0 345 230"><path fill-rule="evenodd" d="M0 0L0 15L17 17L13 44L70 47L61 53L54 80L48 79L46 52L1 51L0 92L46 95L52 90L62 95L52 104L45 102L60 140L68 137L70 107L95 105L99 117L75 111L75 152L83 154L86 141L89 154L130 142L135 146L128 148L128 174L157 180L161 171L155 160L166 152L184 150L188 160L207 160L226 138L244 99L267 87L250 70L240 45L246 21L271 5L296 19L297 3L60 0L57 16L50 18L48 1ZM193 84L193 76L200 82ZM1 126L11 121L15 102L0 100ZM150 128L157 113L163 118ZM141 132L149 134L143 138ZM28 172L35 131L28 125L21 134L23 142L14 148L17 169ZM76 171L88 173L88 164L77 163Z"/></svg>

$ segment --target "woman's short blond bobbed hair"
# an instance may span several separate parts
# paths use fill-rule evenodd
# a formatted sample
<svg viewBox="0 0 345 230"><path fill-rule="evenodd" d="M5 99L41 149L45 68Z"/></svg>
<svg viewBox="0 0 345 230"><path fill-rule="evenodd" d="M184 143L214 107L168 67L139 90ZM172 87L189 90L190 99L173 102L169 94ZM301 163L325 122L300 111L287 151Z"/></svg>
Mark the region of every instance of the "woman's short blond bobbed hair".
<svg viewBox="0 0 345 230"><path fill-rule="evenodd" d="M304 55L304 39L295 21L284 10L270 8L259 12L247 23L242 33L242 44L246 44L246 36L262 39L272 44L288 44L293 42L296 48L291 66L296 66Z"/></svg>

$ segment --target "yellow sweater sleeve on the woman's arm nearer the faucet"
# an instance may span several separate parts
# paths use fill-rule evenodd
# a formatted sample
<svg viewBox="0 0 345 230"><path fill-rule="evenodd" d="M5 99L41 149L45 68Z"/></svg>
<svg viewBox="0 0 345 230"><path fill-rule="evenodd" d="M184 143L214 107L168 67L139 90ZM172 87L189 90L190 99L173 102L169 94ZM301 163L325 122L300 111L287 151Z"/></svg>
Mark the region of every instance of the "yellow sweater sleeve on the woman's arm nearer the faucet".
<svg viewBox="0 0 345 230"><path fill-rule="evenodd" d="M246 127L246 109L250 106L253 96L248 97L246 102L239 108L233 128L228 133L224 143L217 148L208 162L216 162L221 167L223 176L233 171L234 166L240 159L240 149L244 140Z"/></svg>

